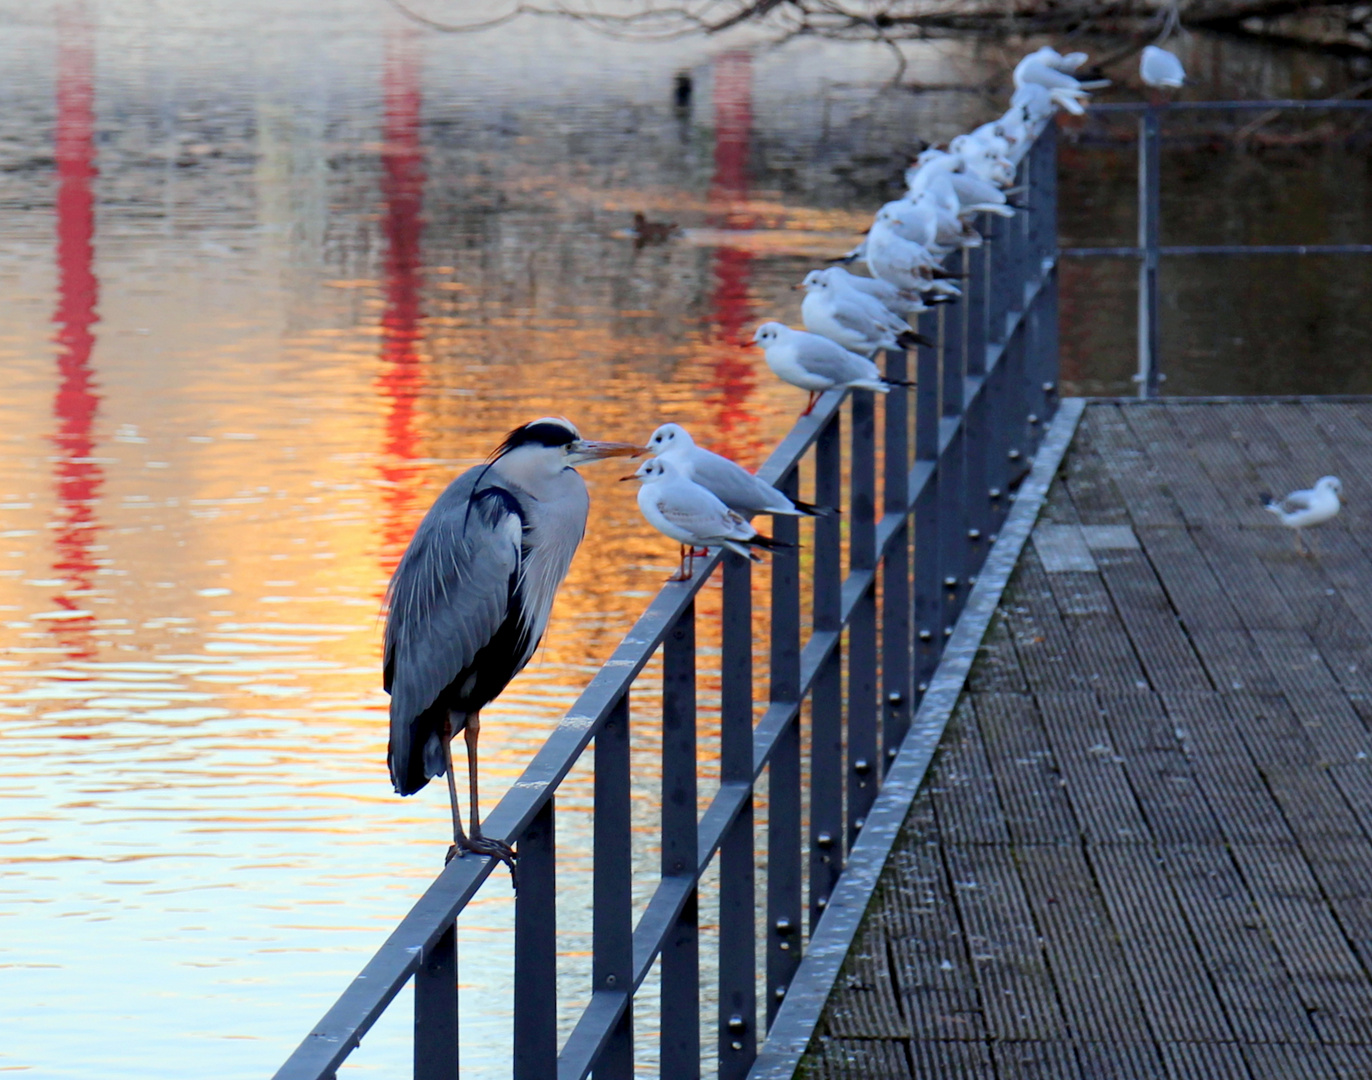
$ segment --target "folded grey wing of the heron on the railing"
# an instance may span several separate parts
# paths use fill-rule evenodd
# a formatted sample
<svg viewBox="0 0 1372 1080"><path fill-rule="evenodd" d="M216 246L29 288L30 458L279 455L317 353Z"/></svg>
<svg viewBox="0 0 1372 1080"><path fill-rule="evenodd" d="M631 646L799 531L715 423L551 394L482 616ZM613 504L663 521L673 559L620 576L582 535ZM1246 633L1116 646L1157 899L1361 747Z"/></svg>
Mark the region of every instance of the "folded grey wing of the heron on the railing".
<svg viewBox="0 0 1372 1080"><path fill-rule="evenodd" d="M395 570L386 622L386 689L397 725L432 705L517 612L523 517L499 487L477 493L473 469L425 515Z"/></svg>

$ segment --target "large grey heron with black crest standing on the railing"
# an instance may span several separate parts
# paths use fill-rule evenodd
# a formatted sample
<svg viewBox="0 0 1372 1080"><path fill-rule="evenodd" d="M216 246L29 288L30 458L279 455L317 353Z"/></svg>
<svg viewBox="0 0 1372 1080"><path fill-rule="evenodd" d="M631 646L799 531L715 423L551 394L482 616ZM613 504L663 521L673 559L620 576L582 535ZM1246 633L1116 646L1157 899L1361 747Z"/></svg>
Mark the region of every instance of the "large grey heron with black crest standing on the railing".
<svg viewBox="0 0 1372 1080"><path fill-rule="evenodd" d="M447 486L420 521L387 589L383 685L391 694L387 763L398 795L447 777L453 848L502 860L509 844L482 834L476 742L482 708L538 648L567 576L590 498L576 465L634 457L631 443L583 439L567 420L514 428L484 465ZM453 738L466 742L471 836L462 832Z"/></svg>

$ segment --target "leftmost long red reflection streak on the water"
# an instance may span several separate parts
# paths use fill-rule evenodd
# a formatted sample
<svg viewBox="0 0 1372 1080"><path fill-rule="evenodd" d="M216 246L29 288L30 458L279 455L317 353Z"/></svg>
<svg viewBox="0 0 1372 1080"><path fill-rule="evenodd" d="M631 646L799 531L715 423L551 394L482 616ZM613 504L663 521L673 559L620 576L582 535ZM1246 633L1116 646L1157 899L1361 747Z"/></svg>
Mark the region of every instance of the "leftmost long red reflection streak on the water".
<svg viewBox="0 0 1372 1080"><path fill-rule="evenodd" d="M92 546L97 521L95 501L104 475L91 461L95 451L96 412L91 350L96 322L99 281L95 276L95 47L84 5L58 15L58 122L54 132L58 159L58 392L52 410L58 427L55 487L58 520L54 543L56 576L67 587L55 597L59 608L84 611L82 596L96 572ZM95 656L95 616L81 615L54 623L54 635L77 660Z"/></svg>

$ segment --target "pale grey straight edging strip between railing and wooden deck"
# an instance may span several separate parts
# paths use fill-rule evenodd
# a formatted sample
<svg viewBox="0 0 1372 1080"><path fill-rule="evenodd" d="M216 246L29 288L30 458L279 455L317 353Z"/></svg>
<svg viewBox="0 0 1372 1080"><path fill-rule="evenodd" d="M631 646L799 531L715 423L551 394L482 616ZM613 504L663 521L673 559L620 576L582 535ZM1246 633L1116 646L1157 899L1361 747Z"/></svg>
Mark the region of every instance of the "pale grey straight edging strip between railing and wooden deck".
<svg viewBox="0 0 1372 1080"><path fill-rule="evenodd" d="M1058 406L748 1080L790 1080L796 1073L1085 405L1085 398L1065 398Z"/></svg>

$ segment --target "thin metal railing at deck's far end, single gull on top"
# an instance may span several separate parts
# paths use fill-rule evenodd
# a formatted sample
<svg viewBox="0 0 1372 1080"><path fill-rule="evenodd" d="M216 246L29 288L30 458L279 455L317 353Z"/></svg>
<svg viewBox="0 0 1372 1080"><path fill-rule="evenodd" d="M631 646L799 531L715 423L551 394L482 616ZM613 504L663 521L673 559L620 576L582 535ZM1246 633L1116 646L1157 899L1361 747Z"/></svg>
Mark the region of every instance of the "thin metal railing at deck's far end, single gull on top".
<svg viewBox="0 0 1372 1080"><path fill-rule="evenodd" d="M1372 255L1372 244L1179 244L1163 247L1162 233L1162 114L1180 111L1280 111L1312 108L1372 108L1372 100L1332 97L1270 102L1109 102L1092 113L1139 114L1139 246L1065 247L1066 258L1122 257L1139 259L1139 371L1133 376L1140 398L1155 398L1166 375L1159 364L1158 263L1162 255Z"/></svg>

